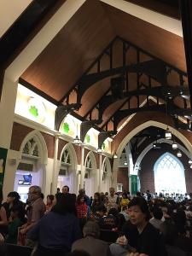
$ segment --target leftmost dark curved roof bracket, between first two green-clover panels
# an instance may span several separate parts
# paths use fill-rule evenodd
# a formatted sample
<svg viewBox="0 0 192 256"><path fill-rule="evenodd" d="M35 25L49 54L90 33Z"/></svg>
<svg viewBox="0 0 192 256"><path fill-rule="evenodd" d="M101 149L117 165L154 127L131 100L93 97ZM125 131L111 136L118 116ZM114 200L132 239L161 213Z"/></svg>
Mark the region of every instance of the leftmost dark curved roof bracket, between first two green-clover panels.
<svg viewBox="0 0 192 256"><path fill-rule="evenodd" d="M80 107L81 104L78 103L58 106L55 111L55 130L59 131L61 122L68 113L72 113L74 110L78 110Z"/></svg>

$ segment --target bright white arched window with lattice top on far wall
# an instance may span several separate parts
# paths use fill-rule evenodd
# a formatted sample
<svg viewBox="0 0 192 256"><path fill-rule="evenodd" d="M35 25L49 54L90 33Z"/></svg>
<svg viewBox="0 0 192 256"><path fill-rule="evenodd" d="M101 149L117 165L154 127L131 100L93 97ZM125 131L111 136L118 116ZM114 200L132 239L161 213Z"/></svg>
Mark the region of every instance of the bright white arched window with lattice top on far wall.
<svg viewBox="0 0 192 256"><path fill-rule="evenodd" d="M160 193L186 193L183 164L166 152L154 164L154 187Z"/></svg>

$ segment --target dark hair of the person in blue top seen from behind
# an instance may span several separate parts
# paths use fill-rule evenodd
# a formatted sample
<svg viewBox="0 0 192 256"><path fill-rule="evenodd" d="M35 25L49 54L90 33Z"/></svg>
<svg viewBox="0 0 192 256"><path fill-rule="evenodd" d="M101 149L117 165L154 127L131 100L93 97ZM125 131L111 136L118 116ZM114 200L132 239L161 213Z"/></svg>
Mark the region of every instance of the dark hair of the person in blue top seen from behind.
<svg viewBox="0 0 192 256"><path fill-rule="evenodd" d="M61 215L65 215L67 212L74 213L75 212L75 200L74 196L71 194L56 194L56 204L55 207L52 208L52 212L59 213Z"/></svg>

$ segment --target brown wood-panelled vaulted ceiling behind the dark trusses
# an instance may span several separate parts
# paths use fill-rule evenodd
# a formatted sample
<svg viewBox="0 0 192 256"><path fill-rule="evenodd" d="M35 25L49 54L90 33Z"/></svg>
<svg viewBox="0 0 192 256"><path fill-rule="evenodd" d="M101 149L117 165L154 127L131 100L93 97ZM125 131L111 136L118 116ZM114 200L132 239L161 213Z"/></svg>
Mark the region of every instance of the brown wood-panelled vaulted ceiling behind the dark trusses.
<svg viewBox="0 0 192 256"><path fill-rule="evenodd" d="M26 69L21 79L59 103L116 36L124 38L149 54L186 72L183 38L101 1L87 0L44 51L38 55L38 58L32 62L32 65ZM114 67L122 65L119 50L117 43L113 52ZM131 50L127 64L135 63L136 58L134 50ZM146 61L147 58L143 55L142 59ZM108 67L107 55L102 59L101 66L103 69ZM171 84L177 85L174 75ZM134 74L131 75L131 86L132 90L136 87ZM109 87L110 79L103 79L86 90L79 115L86 116L86 113L89 113ZM76 95L72 91L70 103L75 101ZM114 102L106 109L102 116L102 125L117 109L126 108L126 105L122 106L124 102L125 100ZM133 108L134 106L136 108L137 102L133 100L131 104Z"/></svg>

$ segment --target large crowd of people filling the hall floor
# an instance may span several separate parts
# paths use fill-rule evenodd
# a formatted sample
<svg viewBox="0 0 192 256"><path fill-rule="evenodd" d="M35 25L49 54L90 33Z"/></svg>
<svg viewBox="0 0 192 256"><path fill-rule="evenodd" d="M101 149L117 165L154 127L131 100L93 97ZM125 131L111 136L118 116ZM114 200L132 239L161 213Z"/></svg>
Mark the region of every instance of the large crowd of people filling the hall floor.
<svg viewBox="0 0 192 256"><path fill-rule="evenodd" d="M26 203L0 189L1 251L18 244L36 256L189 256L192 255L192 201L128 191L79 195L69 187L47 195L32 186ZM110 238L111 237L111 238Z"/></svg>

